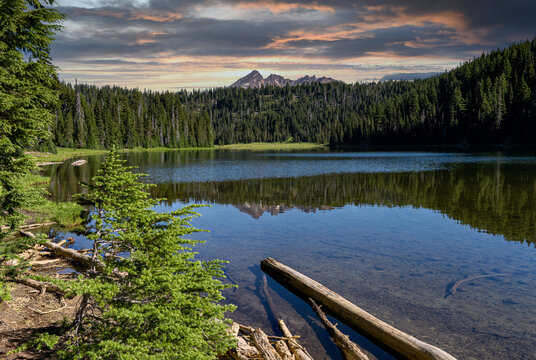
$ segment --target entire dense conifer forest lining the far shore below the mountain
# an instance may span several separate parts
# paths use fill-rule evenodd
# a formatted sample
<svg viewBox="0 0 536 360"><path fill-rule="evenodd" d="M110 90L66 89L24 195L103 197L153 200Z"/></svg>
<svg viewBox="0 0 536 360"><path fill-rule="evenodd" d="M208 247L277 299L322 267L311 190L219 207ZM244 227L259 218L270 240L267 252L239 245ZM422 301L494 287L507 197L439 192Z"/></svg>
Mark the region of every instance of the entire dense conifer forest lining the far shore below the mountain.
<svg viewBox="0 0 536 360"><path fill-rule="evenodd" d="M535 144L536 39L415 81L152 92L61 84L56 146Z"/></svg>

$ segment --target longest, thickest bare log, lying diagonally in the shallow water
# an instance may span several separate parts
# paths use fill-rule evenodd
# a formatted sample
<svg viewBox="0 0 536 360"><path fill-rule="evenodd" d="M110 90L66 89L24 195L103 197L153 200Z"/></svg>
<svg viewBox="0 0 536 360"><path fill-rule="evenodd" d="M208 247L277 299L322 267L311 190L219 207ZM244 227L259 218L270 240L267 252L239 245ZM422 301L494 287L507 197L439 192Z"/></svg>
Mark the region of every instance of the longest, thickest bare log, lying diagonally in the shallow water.
<svg viewBox="0 0 536 360"><path fill-rule="evenodd" d="M261 261L261 269L300 296L313 298L336 318L398 355L418 360L455 359L438 347L418 340L381 321L322 284L275 259L267 258Z"/></svg>

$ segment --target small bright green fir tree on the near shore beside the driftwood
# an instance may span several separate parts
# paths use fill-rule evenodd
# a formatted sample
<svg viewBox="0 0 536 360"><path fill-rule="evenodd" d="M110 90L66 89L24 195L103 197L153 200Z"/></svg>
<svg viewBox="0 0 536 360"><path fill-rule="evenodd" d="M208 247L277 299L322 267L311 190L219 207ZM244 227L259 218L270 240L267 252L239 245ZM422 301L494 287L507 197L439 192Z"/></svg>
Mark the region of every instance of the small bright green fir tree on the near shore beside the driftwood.
<svg viewBox="0 0 536 360"><path fill-rule="evenodd" d="M219 260L197 261L184 236L194 208L157 213L149 185L115 151L84 200L95 206L88 238L93 265L70 284L82 296L64 358L211 359L233 345L226 334Z"/></svg>

